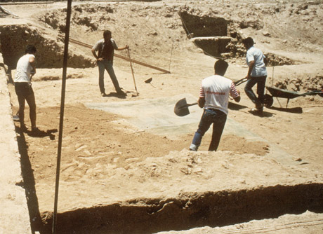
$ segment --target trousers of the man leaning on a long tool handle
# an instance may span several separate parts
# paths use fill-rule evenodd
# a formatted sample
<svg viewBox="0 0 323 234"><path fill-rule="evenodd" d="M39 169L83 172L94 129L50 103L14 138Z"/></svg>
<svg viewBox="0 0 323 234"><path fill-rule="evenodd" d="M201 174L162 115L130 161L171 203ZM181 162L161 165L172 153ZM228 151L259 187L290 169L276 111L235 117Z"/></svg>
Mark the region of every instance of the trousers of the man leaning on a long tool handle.
<svg viewBox="0 0 323 234"><path fill-rule="evenodd" d="M103 60L98 61L98 68L99 68L99 87L100 92L105 93L105 70L107 70L107 73L109 74L111 81L114 85L114 88L117 90L117 92L120 90L119 83L117 80L117 76L114 74L114 69L112 66L112 61Z"/></svg>

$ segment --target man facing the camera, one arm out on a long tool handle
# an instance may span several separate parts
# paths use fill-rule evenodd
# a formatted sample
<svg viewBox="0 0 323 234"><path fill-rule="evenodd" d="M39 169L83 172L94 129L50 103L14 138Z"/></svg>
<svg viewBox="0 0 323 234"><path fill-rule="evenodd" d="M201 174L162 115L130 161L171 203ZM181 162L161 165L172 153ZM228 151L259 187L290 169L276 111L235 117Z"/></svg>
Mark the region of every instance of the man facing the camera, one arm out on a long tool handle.
<svg viewBox="0 0 323 234"><path fill-rule="evenodd" d="M128 49L128 46L124 46L122 48L119 48L117 46L117 43L112 39L112 33L109 30L105 30L103 32L103 39L100 41L97 41L95 45L92 48L92 54L95 57L96 61L98 62L98 68L99 68L99 87L101 96L105 96L105 83L104 83L104 74L105 69L107 70L107 73L109 74L112 83L114 85L115 90L117 91L118 95L126 95L120 88L119 82L117 80L117 76L114 74L113 69L113 55L114 50L126 50ZM98 55L96 54L96 51L98 51Z"/></svg>

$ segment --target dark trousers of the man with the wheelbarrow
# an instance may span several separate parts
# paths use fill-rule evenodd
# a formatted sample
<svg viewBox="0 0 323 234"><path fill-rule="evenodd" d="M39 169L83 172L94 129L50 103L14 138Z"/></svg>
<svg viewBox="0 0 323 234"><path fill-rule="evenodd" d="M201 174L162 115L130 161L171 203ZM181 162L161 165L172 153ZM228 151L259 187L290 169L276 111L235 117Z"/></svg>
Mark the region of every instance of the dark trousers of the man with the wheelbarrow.
<svg viewBox="0 0 323 234"><path fill-rule="evenodd" d="M251 78L246 82L244 86L244 91L246 95L251 99L251 101L256 104L256 106L261 106L265 101L265 83L267 76L251 76ZM252 88L257 84L257 94L258 97L254 94Z"/></svg>

